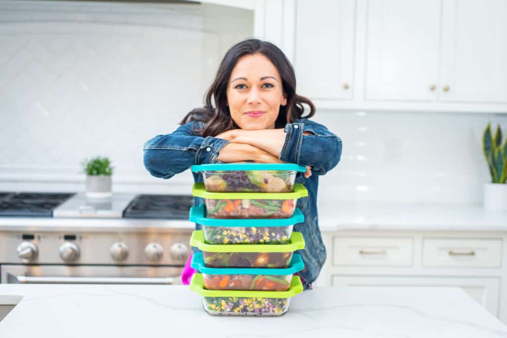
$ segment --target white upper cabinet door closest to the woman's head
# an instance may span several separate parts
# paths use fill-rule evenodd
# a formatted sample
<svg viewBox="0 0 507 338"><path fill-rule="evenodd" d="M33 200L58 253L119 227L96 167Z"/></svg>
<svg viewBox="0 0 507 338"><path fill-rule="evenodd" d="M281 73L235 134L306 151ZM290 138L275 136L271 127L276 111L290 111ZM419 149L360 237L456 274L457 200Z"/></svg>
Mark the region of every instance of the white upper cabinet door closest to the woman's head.
<svg viewBox="0 0 507 338"><path fill-rule="evenodd" d="M295 68L298 94L352 97L355 1L298 1Z"/></svg>

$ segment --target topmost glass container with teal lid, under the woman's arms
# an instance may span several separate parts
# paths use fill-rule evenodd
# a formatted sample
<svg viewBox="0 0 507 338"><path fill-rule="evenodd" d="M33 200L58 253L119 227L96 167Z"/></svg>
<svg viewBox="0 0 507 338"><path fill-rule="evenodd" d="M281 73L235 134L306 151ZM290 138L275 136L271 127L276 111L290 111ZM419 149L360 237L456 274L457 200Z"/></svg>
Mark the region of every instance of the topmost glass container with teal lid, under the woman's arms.
<svg viewBox="0 0 507 338"><path fill-rule="evenodd" d="M294 163L217 163L191 168L201 172L206 191L214 193L290 193L297 172L306 167Z"/></svg>

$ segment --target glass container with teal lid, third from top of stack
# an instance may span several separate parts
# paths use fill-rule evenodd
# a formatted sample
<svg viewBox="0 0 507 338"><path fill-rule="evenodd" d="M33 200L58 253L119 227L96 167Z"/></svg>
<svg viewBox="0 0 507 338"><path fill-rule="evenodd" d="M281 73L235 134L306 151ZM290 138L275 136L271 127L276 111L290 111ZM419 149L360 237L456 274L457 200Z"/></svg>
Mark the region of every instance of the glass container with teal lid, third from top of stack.
<svg viewBox="0 0 507 338"><path fill-rule="evenodd" d="M296 209L291 218L218 219L205 216L204 204L190 208L190 221L201 224L208 244L286 244L291 240L294 224L305 220Z"/></svg>

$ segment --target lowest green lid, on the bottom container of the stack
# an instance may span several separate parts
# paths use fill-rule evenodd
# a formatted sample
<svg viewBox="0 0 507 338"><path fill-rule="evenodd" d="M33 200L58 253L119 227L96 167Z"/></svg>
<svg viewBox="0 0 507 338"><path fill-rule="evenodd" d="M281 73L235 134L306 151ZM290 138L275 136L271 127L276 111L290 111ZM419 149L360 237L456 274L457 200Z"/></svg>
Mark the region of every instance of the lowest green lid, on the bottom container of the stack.
<svg viewBox="0 0 507 338"><path fill-rule="evenodd" d="M190 289L204 297L289 298L303 291L303 283L299 276L293 276L291 287L287 291L207 290L204 288L202 274L194 274L190 280Z"/></svg>

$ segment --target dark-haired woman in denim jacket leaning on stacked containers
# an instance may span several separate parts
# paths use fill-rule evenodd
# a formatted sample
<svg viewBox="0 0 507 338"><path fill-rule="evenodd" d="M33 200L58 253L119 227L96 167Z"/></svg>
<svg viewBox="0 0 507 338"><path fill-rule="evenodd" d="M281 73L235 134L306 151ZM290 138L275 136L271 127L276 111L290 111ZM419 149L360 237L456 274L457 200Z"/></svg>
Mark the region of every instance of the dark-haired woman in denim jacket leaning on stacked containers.
<svg viewBox="0 0 507 338"><path fill-rule="evenodd" d="M308 189L308 197L297 204L305 222L294 230L306 242L300 251L305 269L299 274L305 289L311 288L326 258L317 217L318 176L340 161L341 139L308 120L315 107L296 94L293 66L280 49L258 39L242 41L226 53L204 101L204 107L190 111L173 133L144 143L144 166L165 179L194 164L254 161L306 166L306 173L296 177ZM310 107L305 117L303 103ZM202 182L200 174L193 175ZM204 200L196 198L195 203Z"/></svg>

